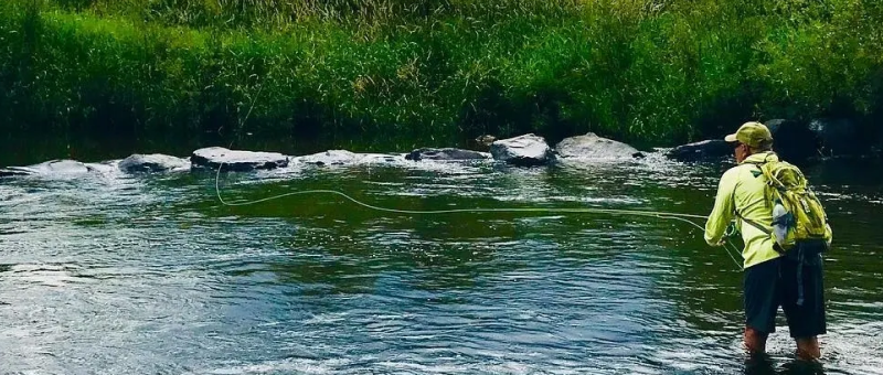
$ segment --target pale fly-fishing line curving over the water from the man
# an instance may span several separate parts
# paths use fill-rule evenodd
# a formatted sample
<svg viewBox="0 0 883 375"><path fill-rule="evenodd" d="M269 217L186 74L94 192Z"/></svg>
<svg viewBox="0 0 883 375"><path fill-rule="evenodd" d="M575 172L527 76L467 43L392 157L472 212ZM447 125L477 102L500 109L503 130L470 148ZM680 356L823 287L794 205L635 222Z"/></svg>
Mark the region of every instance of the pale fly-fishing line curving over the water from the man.
<svg viewBox="0 0 883 375"><path fill-rule="evenodd" d="M703 231L703 232L705 231L705 228L703 228L699 224L693 223L692 221L690 221L690 218L705 219L706 218L705 216L692 215L692 214L681 214L681 213L674 213L674 212L641 211L641 210L617 210L617 208L593 208L593 207L582 207L582 208L567 208L567 207L481 208L481 207L476 207L476 208L450 208L450 210L428 210L428 211L427 210L398 210L398 208L389 208L389 207L375 206L375 205L372 205L372 204L368 204L368 203L361 202L361 201L359 201L359 200L357 200L357 199L354 199L354 197L352 197L350 195L347 195L344 193L341 193L339 191L325 190L325 189L288 192L288 193L284 193L284 194L273 195L273 196L268 196L268 197L265 197L265 199L259 199L259 200L254 200L254 201L246 201L246 202L227 202L227 201L224 201L224 199L221 196L221 169L223 167L224 167L223 162L221 163L221 165L217 167L217 172L215 173L215 179L214 179L214 192L215 192L215 195L217 196L217 200L221 202L221 204L223 204L225 206L232 206L232 207L247 206L247 205L258 204L258 203L263 203L263 202L275 201L275 200L278 200L278 199L292 196L292 195L332 194L332 195L341 196L341 197L343 197L343 199L345 199L345 200L348 200L348 201L350 201L350 202L352 202L352 203L354 203L357 205L363 206L365 208L370 208L370 210L374 210L374 211L379 211L379 212L394 213L394 214L438 215L438 214L457 214L457 213L474 214L474 213L536 213L536 212L571 213L571 214L595 213L595 214L609 214L609 215L632 215L632 216L645 216L645 217L657 217L657 218L670 218L670 219L675 219L675 221L689 223L690 225L699 228L700 231ZM733 256L733 254L731 254L731 250L726 245L731 245L731 244L728 244L728 242L724 243L724 250L726 251L726 255L728 255L730 258L733 259L733 262L736 265L736 267L740 270L742 270L743 269L742 268L742 264L740 264L736 260L736 258ZM736 254L738 254L737 249L735 249L735 251L736 251Z"/></svg>

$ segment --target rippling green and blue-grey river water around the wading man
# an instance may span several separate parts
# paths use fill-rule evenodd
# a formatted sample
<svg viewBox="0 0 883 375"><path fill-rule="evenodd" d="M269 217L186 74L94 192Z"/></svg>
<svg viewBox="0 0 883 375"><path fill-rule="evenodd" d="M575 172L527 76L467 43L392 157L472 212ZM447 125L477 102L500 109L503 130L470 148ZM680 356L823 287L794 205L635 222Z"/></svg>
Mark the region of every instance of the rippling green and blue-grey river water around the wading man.
<svg viewBox="0 0 883 375"><path fill-rule="evenodd" d="M221 186L232 201L336 189L407 210L703 215L726 167L657 154L532 169L298 164L222 174ZM883 368L881 170L806 169L834 227L827 374ZM211 172L0 180L0 373L810 373L794 368L784 320L769 362L746 363L742 272L684 223L396 215L332 195L225 207L214 183Z"/></svg>

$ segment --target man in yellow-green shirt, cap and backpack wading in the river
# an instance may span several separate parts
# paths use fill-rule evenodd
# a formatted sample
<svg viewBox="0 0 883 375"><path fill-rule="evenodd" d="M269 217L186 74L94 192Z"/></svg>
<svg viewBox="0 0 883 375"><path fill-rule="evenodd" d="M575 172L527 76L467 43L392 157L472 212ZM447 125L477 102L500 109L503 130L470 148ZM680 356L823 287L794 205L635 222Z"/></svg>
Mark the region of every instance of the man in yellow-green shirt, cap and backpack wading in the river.
<svg viewBox="0 0 883 375"><path fill-rule="evenodd" d="M772 151L766 126L746 122L724 139L734 147L738 165L721 178L705 242L721 246L736 219L745 242L745 346L753 354L766 351L781 306L797 355L816 360L817 336L826 333L820 253L831 242L827 217L802 173Z"/></svg>

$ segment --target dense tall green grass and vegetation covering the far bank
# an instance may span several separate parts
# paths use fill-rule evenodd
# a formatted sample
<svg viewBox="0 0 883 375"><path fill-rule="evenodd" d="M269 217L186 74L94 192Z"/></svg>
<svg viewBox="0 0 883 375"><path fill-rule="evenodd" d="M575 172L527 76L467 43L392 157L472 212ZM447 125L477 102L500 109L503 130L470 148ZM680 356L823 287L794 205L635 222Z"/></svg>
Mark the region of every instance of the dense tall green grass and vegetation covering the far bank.
<svg viewBox="0 0 883 375"><path fill-rule="evenodd" d="M4 0L0 130L656 144L883 120L879 0Z"/></svg>

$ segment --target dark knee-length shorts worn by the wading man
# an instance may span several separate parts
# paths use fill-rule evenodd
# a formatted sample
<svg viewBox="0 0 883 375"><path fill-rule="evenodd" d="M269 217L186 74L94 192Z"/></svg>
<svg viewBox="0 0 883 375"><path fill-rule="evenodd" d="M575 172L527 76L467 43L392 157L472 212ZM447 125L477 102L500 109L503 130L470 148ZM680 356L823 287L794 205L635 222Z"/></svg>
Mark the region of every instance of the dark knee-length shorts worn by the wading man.
<svg viewBox="0 0 883 375"><path fill-rule="evenodd" d="M763 333L776 332L776 313L780 306L791 338L827 333L821 248L818 246L796 247L786 256L745 269L747 326Z"/></svg>

